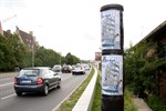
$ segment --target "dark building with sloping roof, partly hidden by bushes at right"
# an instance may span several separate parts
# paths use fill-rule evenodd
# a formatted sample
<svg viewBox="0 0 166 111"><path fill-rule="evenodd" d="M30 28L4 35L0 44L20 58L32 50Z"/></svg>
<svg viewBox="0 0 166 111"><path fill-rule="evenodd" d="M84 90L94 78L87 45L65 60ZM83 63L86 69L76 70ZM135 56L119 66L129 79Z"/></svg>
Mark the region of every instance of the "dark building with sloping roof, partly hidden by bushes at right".
<svg viewBox="0 0 166 111"><path fill-rule="evenodd" d="M149 34L141 40L136 46L143 41L153 41L157 44L157 58L166 61L166 21L155 28ZM151 56L153 50L148 51L146 56ZM166 64L163 64L157 69L158 82L159 82L159 97L166 101Z"/></svg>

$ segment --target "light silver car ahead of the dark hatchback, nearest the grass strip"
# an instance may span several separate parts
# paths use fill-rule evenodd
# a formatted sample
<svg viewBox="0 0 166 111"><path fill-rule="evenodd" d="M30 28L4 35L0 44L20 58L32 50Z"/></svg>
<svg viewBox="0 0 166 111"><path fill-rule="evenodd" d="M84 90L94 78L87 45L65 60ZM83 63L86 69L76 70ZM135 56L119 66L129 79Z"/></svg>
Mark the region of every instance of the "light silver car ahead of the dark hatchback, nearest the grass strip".
<svg viewBox="0 0 166 111"><path fill-rule="evenodd" d="M72 74L85 74L85 69L84 67L82 65L75 65L73 71L72 71Z"/></svg>

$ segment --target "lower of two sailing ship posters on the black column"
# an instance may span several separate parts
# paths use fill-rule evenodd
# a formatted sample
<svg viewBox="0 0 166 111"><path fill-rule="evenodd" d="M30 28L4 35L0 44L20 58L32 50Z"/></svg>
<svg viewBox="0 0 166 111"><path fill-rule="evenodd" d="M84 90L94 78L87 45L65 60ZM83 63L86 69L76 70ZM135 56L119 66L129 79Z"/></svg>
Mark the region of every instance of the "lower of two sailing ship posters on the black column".
<svg viewBox="0 0 166 111"><path fill-rule="evenodd" d="M102 56L102 94L123 94L123 56Z"/></svg>

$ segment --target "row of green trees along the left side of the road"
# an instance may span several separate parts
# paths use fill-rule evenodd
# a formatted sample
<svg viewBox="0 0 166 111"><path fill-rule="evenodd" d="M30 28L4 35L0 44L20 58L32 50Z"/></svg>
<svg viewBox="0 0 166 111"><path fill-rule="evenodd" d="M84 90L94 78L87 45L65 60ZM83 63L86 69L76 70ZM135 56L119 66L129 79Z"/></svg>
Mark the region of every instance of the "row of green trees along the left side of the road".
<svg viewBox="0 0 166 111"><path fill-rule="evenodd" d="M62 57L60 52L45 49L34 43L34 49L22 43L17 34L4 37L0 34L0 71L14 71L15 67L24 68L32 65L32 54L34 56L34 67L53 67L54 64L76 64L81 60L70 52Z"/></svg>

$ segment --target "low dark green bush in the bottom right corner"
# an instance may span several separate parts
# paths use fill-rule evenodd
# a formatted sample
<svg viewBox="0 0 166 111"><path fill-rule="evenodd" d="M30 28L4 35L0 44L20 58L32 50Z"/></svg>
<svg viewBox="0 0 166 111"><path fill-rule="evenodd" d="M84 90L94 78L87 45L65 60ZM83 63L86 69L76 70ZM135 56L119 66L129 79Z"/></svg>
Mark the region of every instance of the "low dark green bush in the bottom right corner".
<svg viewBox="0 0 166 111"><path fill-rule="evenodd" d="M148 97L146 102L153 111L166 111L164 101L162 101L162 99L158 97Z"/></svg>

